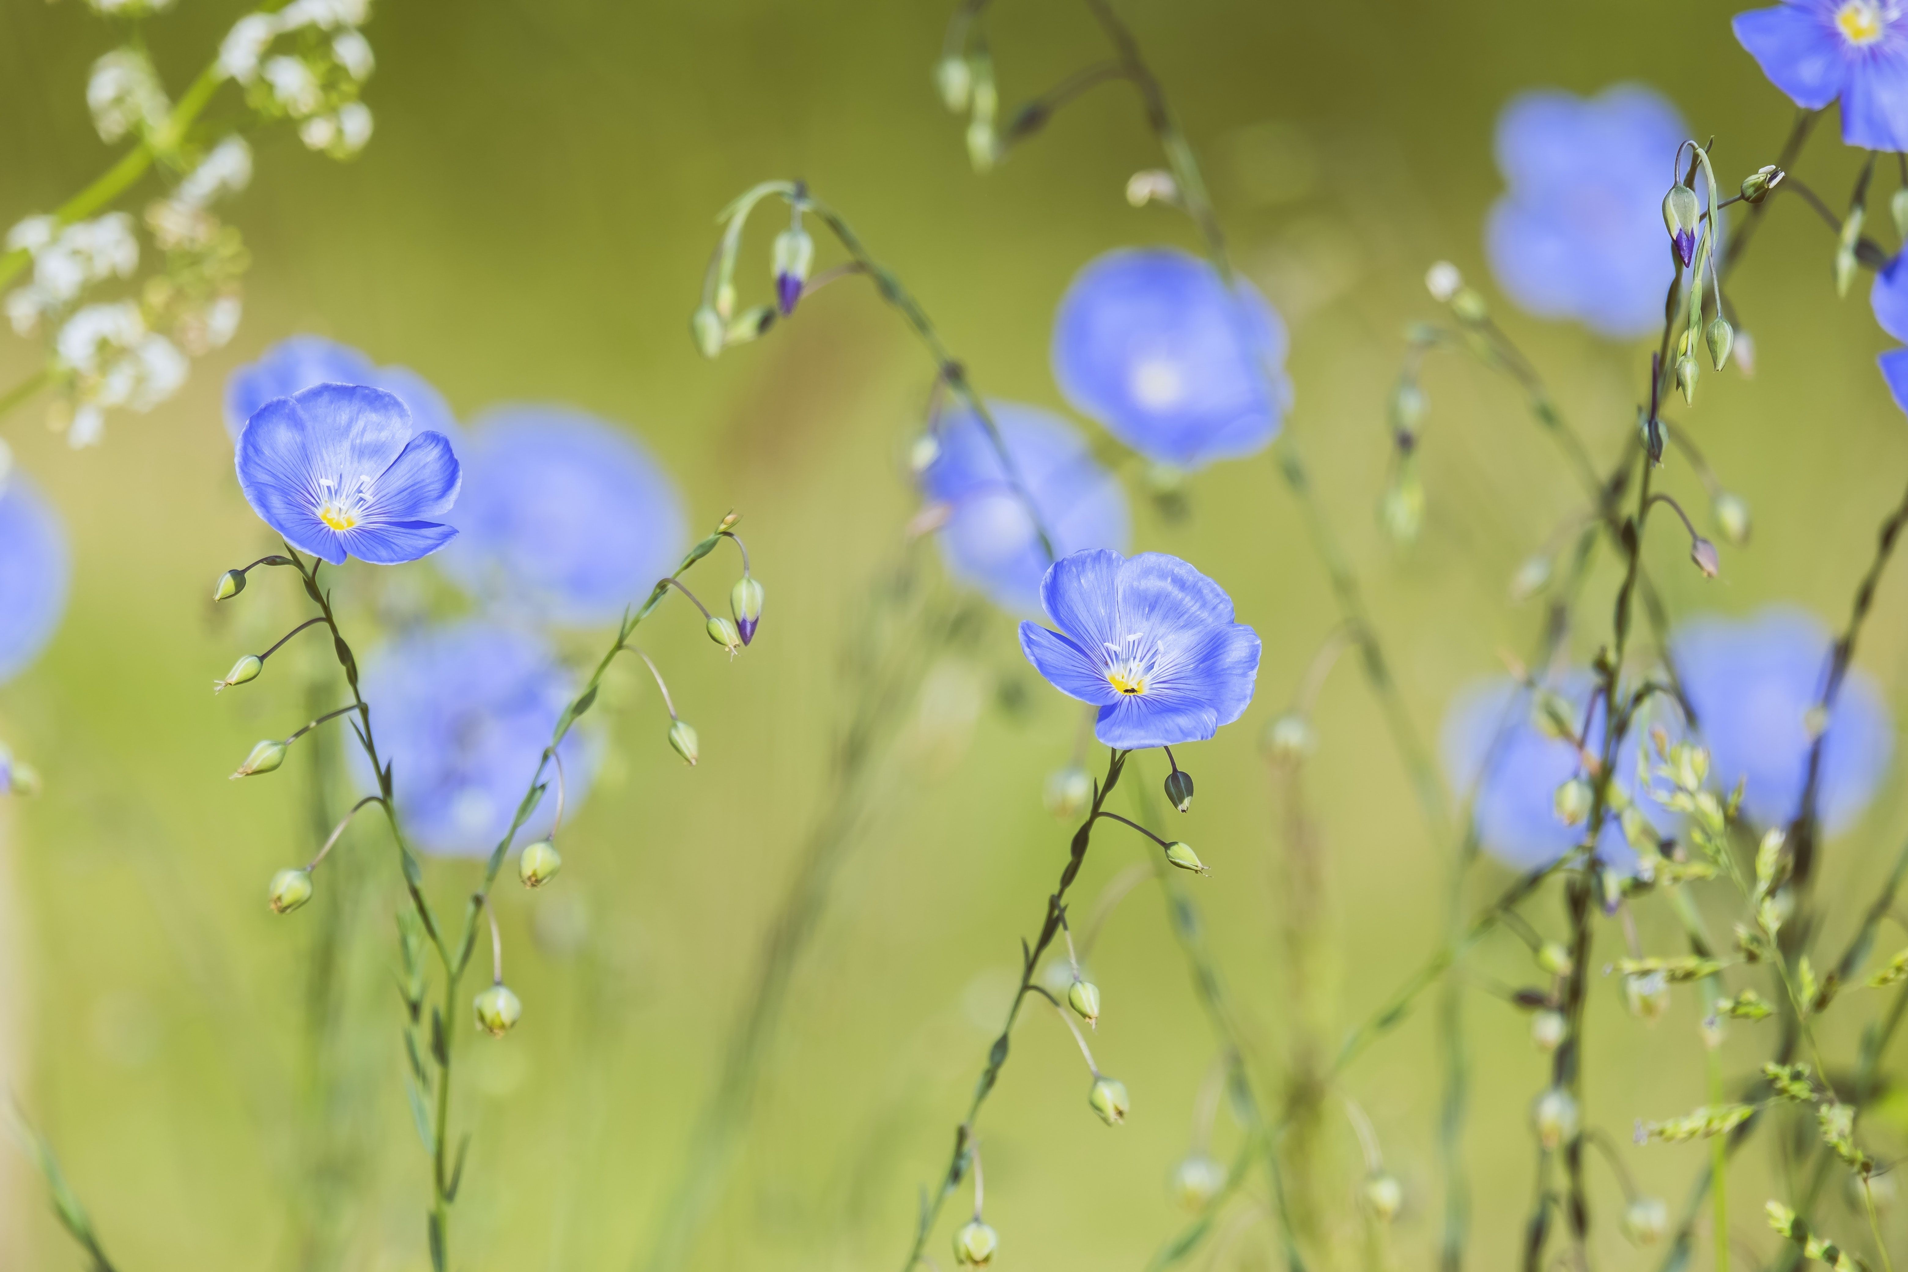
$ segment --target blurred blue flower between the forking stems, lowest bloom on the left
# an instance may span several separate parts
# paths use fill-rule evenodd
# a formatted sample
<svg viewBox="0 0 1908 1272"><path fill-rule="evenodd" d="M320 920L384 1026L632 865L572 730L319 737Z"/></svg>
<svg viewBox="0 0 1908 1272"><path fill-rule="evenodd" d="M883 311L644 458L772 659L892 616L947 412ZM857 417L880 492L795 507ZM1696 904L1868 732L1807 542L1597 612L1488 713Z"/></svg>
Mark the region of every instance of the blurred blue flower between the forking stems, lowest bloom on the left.
<svg viewBox="0 0 1908 1272"><path fill-rule="evenodd" d="M416 631L376 650L364 664L364 700L378 753L391 765L404 833L425 852L490 852L530 790L572 688L542 641L477 620ZM595 751L572 730L557 757L569 818L590 790ZM359 780L374 780L357 749L353 763ZM550 791L513 847L550 831L555 769L544 776Z"/></svg>

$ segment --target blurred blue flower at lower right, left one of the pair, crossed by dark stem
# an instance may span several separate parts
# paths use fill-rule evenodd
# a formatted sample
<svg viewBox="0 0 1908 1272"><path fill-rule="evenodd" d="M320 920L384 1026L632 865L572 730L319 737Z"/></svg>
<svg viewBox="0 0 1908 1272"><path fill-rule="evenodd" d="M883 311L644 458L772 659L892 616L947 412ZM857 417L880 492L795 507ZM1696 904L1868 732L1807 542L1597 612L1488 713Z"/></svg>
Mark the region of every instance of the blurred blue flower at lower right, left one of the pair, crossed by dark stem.
<svg viewBox="0 0 1908 1272"><path fill-rule="evenodd" d="M1570 704L1570 715L1584 721L1591 679L1566 677L1553 687ZM1586 748L1603 755L1605 713L1599 702L1589 721ZM1637 797L1637 728L1616 757L1616 786ZM1444 776L1460 797L1471 799L1471 818L1479 843L1511 870L1549 866L1584 843L1586 826L1570 826L1557 814L1557 788L1584 776L1582 757L1570 742L1553 738L1532 719L1530 688L1509 677L1494 677L1460 692L1444 711L1441 748ZM1671 814L1649 795L1637 809L1658 831L1673 826ZM1610 870L1633 873L1637 854L1614 816L1597 835L1597 856Z"/></svg>

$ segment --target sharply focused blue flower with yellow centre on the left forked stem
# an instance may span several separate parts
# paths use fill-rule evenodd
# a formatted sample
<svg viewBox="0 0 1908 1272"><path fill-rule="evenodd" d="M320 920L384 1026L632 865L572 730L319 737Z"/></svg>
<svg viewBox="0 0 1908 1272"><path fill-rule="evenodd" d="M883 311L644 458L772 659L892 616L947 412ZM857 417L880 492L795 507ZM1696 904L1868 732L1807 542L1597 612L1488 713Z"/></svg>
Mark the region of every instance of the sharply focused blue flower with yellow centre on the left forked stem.
<svg viewBox="0 0 1908 1272"><path fill-rule="evenodd" d="M414 433L384 389L322 383L265 402L238 435L238 488L292 547L332 564L397 564L456 534L437 519L458 498L443 433Z"/></svg>

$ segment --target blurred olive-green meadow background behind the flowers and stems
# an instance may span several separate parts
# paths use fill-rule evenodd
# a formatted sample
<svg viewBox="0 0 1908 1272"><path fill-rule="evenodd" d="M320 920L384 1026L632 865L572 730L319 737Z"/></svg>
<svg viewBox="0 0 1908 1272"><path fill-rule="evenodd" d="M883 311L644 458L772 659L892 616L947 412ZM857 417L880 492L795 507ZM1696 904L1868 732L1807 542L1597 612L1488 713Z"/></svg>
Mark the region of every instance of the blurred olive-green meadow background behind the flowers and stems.
<svg viewBox="0 0 1908 1272"><path fill-rule="evenodd" d="M1450 257L1467 277L1488 277L1481 221L1500 189L1498 107L1540 84L1591 92L1641 80L1673 97L1698 137L1717 135L1729 174L1774 160L1790 105L1729 36L1732 6L1713 2L1122 8L1206 158L1242 267L1292 324L1288 427L1366 582L1418 727L1435 736L1460 685L1498 669L1500 650L1530 648L1540 614L1513 606L1505 585L1576 509L1559 454L1511 389L1446 359L1427 374L1425 534L1399 553L1374 515L1402 324L1431 317L1423 269ZM242 694L204 692L237 650L294 614L277 595L282 580L261 578L231 614L214 614L208 593L219 570L269 544L231 477L223 376L301 330L416 368L466 418L498 400L561 400L626 421L675 473L696 526L729 507L746 517L769 589L756 645L731 666L668 608L647 637L702 734L702 765L689 770L668 751L660 704L622 667L614 709L597 711L609 769L567 839L565 875L534 896L511 887L500 898L523 1024L498 1043L460 1039L458 1119L475 1144L454 1264L633 1268L649 1251L765 927L828 814L830 755L857 692L857 660L843 648L901 553L914 511L906 442L931 376L857 280L805 303L763 343L704 362L687 315L714 214L757 179L805 177L914 288L985 393L1055 408L1047 326L1068 277L1118 244L1192 242L1175 214L1122 198L1126 177L1158 158L1118 88L1068 109L1002 170L973 175L960 124L931 86L944 10L387 0L366 29L378 132L363 158L340 166L271 132L252 187L227 210L256 256L237 341L195 364L168 406L114 418L99 450L69 452L36 408L6 421L19 463L67 517L74 584L46 658L0 690L0 732L46 776L38 799L0 805L10 856L0 1072L57 1144L124 1268L427 1266L425 1159L399 1081L389 845L372 830L353 833L332 858L340 870L321 875L321 902L273 917L265 879L313 845L305 774L288 767L242 786L225 774L252 740L303 719L301 681L277 675L275 662L275 675ZM1009 103L1103 55L1078 6L994 10ZM168 82L195 74L240 11L183 0L147 23ZM111 160L82 95L90 61L111 42L73 0L0 0L0 219L57 204ZM1832 198L1849 189L1855 166L1834 124L1797 172ZM1757 530L1748 549L1725 547L1715 582L1687 566L1679 536L1650 542L1677 614L1788 599L1839 624L1872 528L1898 494L1908 444L1872 362L1885 338L1866 282L1835 301L1832 246L1799 204L1778 204L1734 280L1757 376L1706 378L1685 416L1753 505ZM834 259L824 244L820 265ZM744 278L765 296L765 233L748 261ZM1595 454L1616 456L1633 427L1643 347L1505 305L1500 317ZM10 339L0 383L29 374L34 357ZM1687 467L1666 473L1687 503L1706 507ZM1280 851L1290 803L1257 736L1334 608L1269 460L1198 475L1185 521L1160 517L1139 473L1128 475L1135 545L1215 576L1265 637L1252 711L1181 755L1200 799L1175 828L1213 868L1194 894L1254 1064L1276 1091L1294 1034ZM729 568L710 570L717 595ZM435 603L429 566L412 570L416 597ZM931 559L925 572L937 585ZM1605 629L1612 585L1605 566L1572 633L1580 656ZM406 587L374 593L355 578L353 614L372 622L380 606L416 601ZM1895 578L1860 664L1897 711L1904 629L1908 580ZM923 645L925 688L883 736L872 799L794 967L786 1028L735 1169L681 1266L899 1266L916 1190L943 1167L998 1028L1015 942L1063 860L1068 831L1042 810L1040 788L1068 759L1076 715L1021 664L1009 622L990 616L960 645L883 639ZM591 645L599 639L576 641L574 654ZM1324 690L1317 728L1305 801L1326 866L1311 917L1330 954L1315 992L1336 1043L1439 940L1450 847L1429 839L1349 660ZM1145 769L1135 786L1156 790L1158 776ZM1131 810L1124 797L1116 807ZM1908 809L1891 784L1834 845L1824 894L1843 900L1830 910L1830 940L1904 830ZM1103 831L1078 900L1141 860L1137 837ZM454 904L473 870L431 866L441 904ZM1483 900L1507 879L1484 864L1471 894ZM1530 915L1561 931L1553 896ZM1647 946L1675 952L1660 906L1643 906L1641 923ZM326 933L345 950L342 1007L319 1032L343 1098L319 1108L307 1005L309 969L332 965ZM1599 940L1614 950L1616 929ZM1477 967L1483 984L1534 980L1509 936L1492 938ZM1025 1016L983 1118L1002 1266L1139 1266L1185 1222L1164 1180L1187 1152L1213 1041L1151 883L1114 912L1093 971L1105 994L1095 1055L1131 1089L1133 1114L1118 1131L1099 1125L1084 1108L1072 1041L1047 1013ZM1679 1205L1704 1148L1631 1148L1628 1131L1635 1118L1704 1100L1694 1001L1679 992L1670 1016L1645 1026L1624 1013L1618 978L1595 976L1591 992L1587 1118L1620 1142L1649 1192ZM1393 1245L1378 1257L1433 1259L1431 1015L1414 1013L1328 1102L1317 1171L1303 1180L1328 1215L1326 1266L1364 1257L1353 1205L1362 1165L1339 1095L1370 1112L1406 1190ZM1505 1268L1530 1203L1526 1106L1547 1060L1524 1018L1484 992L1467 995L1467 1022L1473 1264ZM1847 1045L1851 1022L1839 1028L1832 1036ZM1740 1026L1729 1072L1752 1072L1765 1047L1755 1026ZM1236 1142L1221 1114L1221 1156ZM1759 1209L1774 1179L1765 1140L1732 1180L1746 1249L1773 1247ZM17 1159L0 1180L0 1261L73 1266ZM1601 1165L1591 1198L1614 1219L1622 1194ZM948 1215L964 1209L958 1198ZM307 1240L313 1222L321 1253ZM1897 1215L1889 1222L1898 1230ZM929 1243L941 1262L946 1230ZM1612 1222L1593 1255L1645 1259ZM1240 1226L1219 1262L1273 1266L1267 1224Z"/></svg>

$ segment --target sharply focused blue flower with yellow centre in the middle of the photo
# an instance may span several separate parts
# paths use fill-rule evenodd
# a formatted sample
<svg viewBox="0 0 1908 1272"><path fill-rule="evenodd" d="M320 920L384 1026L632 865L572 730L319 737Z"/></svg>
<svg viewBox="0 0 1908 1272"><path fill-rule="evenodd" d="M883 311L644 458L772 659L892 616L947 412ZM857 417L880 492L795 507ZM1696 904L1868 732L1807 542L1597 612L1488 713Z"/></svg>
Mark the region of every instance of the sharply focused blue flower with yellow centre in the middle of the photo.
<svg viewBox="0 0 1908 1272"><path fill-rule="evenodd" d="M1040 603L1059 631L1021 624L1021 652L1068 698L1099 708L1110 748L1204 742L1252 702L1259 633L1179 557L1105 547L1053 563Z"/></svg>

